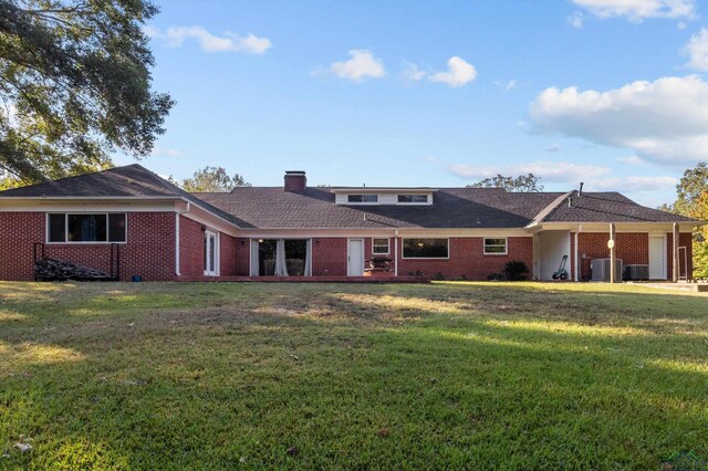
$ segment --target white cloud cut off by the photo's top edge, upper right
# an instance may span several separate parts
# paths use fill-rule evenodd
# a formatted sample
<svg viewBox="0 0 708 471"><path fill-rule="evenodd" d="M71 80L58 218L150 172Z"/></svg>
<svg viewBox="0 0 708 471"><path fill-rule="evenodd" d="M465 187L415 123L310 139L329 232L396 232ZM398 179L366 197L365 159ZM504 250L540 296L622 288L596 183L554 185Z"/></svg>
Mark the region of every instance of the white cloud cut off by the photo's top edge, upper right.
<svg viewBox="0 0 708 471"><path fill-rule="evenodd" d="M695 0L573 0L573 3L601 19L626 18L635 23L653 18L696 17Z"/></svg>

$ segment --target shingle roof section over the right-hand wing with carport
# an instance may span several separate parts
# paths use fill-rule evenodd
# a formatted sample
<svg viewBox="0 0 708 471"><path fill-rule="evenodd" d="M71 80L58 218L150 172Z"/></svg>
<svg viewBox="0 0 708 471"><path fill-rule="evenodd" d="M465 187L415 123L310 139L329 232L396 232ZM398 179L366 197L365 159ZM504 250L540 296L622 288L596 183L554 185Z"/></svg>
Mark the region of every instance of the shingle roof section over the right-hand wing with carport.
<svg viewBox="0 0 708 471"><path fill-rule="evenodd" d="M700 222L696 219L647 208L615 191L585 192L561 201L542 222Z"/></svg>

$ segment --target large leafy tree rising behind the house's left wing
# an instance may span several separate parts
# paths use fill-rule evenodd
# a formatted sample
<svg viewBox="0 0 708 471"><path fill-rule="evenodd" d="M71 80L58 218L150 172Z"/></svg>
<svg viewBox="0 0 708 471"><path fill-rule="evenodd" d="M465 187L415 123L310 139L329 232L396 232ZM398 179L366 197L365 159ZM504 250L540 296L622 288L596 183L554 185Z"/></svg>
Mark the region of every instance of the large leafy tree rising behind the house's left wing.
<svg viewBox="0 0 708 471"><path fill-rule="evenodd" d="M0 0L0 178L147 156L174 102L150 90L149 0Z"/></svg>

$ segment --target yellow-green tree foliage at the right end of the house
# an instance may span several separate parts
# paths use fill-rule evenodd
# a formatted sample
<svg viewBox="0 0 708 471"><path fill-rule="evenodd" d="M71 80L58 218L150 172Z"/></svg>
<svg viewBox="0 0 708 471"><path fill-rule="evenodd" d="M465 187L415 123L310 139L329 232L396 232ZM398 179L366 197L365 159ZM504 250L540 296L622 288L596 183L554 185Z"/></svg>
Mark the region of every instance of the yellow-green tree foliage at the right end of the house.
<svg viewBox="0 0 708 471"><path fill-rule="evenodd" d="M677 198L673 205L659 209L708 221L708 165L704 161L684 171L676 186ZM694 276L708 278L708 227L694 234Z"/></svg>

